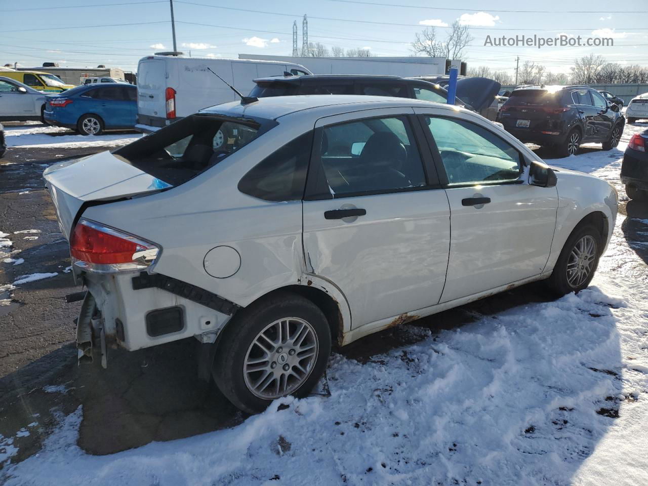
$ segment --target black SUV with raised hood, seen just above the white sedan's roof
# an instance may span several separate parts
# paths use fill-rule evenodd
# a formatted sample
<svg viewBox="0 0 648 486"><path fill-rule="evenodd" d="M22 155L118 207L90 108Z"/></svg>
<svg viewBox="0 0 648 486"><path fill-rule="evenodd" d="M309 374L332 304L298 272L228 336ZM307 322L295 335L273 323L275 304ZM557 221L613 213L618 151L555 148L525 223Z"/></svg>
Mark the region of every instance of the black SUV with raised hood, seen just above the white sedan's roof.
<svg viewBox="0 0 648 486"><path fill-rule="evenodd" d="M369 95L445 103L448 91L423 78L401 78L382 75L306 75L273 76L255 79L250 96L266 98L294 95ZM465 78L457 81L455 104L476 111L494 121L496 111L489 110L500 83L488 78ZM465 98L469 98L467 102Z"/></svg>

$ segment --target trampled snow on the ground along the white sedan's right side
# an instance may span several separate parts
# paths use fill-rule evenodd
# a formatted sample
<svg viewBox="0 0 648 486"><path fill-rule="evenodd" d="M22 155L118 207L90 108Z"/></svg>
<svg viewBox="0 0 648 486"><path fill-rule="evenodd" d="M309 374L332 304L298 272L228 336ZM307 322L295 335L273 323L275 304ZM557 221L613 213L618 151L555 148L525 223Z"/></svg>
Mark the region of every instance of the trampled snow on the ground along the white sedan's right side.
<svg viewBox="0 0 648 486"><path fill-rule="evenodd" d="M617 150L550 163L620 187L640 128ZM334 354L329 398L277 400L227 430L89 456L78 408L6 485L643 485L648 275L624 219L578 295L435 334L406 325L422 340L365 364Z"/></svg>

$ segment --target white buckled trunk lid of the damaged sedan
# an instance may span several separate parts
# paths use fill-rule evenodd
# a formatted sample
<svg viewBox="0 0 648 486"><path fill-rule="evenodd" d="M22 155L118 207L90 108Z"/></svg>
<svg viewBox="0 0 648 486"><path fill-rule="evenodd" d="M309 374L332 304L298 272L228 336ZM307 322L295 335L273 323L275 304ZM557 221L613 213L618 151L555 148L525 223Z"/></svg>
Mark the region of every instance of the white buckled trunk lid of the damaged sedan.
<svg viewBox="0 0 648 486"><path fill-rule="evenodd" d="M128 198L170 187L110 152L52 165L43 172L43 178L56 207L59 226L67 239L78 212L85 204Z"/></svg>

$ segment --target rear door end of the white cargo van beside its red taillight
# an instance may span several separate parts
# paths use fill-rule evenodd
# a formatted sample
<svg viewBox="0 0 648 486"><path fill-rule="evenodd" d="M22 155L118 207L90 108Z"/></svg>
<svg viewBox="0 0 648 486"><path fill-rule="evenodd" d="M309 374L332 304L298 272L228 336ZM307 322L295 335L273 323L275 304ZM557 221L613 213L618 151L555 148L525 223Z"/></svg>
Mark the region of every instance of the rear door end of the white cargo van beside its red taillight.
<svg viewBox="0 0 648 486"><path fill-rule="evenodd" d="M137 123L165 126L167 107L167 63L162 59L143 59L137 66Z"/></svg>

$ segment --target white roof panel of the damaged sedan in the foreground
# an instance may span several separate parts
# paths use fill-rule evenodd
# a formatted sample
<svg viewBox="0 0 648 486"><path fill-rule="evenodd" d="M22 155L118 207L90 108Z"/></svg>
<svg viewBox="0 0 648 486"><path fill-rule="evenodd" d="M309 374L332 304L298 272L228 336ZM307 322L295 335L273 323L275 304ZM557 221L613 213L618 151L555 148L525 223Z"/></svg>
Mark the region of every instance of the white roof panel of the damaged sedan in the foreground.
<svg viewBox="0 0 648 486"><path fill-rule="evenodd" d="M401 108L415 106L447 106L455 110L463 110L456 106L450 106L429 101L416 100L413 98L395 98L384 96L365 96L365 95L297 95L297 96L277 96L268 98L259 98L258 101L241 104L238 101L218 104L209 108L200 110L200 113L226 114L229 116L248 116L259 117L263 119L276 120L285 115L296 113L298 111L315 110L318 108L335 108L345 113L346 111L371 110L372 108ZM348 108L351 108L350 110ZM345 111L346 110L346 111ZM325 115L327 116L327 115Z"/></svg>

